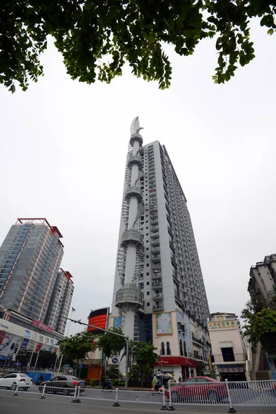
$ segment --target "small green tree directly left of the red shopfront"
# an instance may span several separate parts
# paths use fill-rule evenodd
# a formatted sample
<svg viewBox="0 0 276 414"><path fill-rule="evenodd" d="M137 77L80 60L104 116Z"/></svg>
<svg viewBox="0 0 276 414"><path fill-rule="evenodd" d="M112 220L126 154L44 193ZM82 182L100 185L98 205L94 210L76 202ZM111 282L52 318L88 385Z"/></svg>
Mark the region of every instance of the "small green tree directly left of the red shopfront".
<svg viewBox="0 0 276 414"><path fill-rule="evenodd" d="M156 349L154 345L148 344L148 342L138 342L135 348L134 358L138 367L136 369L141 372L141 386L144 384L144 375L159 359L159 356L155 353Z"/></svg>

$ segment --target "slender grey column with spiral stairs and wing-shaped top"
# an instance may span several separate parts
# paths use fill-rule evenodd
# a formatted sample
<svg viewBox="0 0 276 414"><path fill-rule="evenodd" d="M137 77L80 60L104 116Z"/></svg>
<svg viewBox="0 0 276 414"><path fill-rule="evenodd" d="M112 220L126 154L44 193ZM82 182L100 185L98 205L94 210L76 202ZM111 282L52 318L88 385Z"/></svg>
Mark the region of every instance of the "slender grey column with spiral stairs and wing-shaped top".
<svg viewBox="0 0 276 414"><path fill-rule="evenodd" d="M143 176L143 139L139 118L133 119L130 127L130 145L126 164L126 185L122 215L125 230L119 242L117 270L122 287L117 290L115 306L121 314L123 332L134 338L135 313L143 312L144 299L133 282L144 268L143 235L139 232L138 219L144 214L143 196L139 180Z"/></svg>

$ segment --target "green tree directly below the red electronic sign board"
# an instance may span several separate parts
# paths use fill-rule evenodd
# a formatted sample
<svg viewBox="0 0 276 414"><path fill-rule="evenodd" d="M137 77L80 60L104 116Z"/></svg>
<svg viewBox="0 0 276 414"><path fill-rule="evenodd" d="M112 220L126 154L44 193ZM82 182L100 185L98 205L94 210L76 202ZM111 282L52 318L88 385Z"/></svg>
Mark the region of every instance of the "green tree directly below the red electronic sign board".
<svg viewBox="0 0 276 414"><path fill-rule="evenodd" d="M119 337L114 335L114 333L119 333L123 335L123 332L119 328L110 328L108 329L110 333L106 332L104 335L99 337L97 342L97 347L103 350L105 355L105 362L106 362L106 369L108 365L108 359L112 357L112 355L120 353L124 346L126 345L126 339L124 337Z"/></svg>

